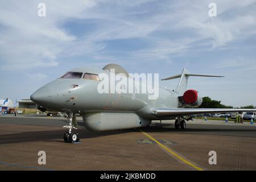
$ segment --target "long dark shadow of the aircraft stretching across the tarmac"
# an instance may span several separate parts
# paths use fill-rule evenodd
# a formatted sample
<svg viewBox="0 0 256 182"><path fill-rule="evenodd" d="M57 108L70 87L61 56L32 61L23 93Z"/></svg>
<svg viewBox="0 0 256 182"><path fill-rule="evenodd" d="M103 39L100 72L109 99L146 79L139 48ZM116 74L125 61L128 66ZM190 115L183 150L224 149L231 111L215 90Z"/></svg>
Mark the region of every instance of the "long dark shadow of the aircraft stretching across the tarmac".
<svg viewBox="0 0 256 182"><path fill-rule="evenodd" d="M173 124L160 124L157 123L155 126L144 127L140 129L126 129L126 130L113 130L113 131L100 131L93 132L88 131L84 128L82 122L78 122L79 129L73 130L76 133L79 133L81 139L86 138L97 138L104 137L108 135L117 135L123 133L134 133L134 132L147 132L147 133L155 133L155 132L171 132L171 133L191 133L193 132L246 132L255 130L246 130L246 129L186 129L186 130L176 130L173 128ZM171 127L169 127L171 126ZM14 133L14 134L3 134L0 135L0 144L10 144L10 143L23 143L23 142L38 142L38 141L49 141L49 142L63 142L63 135L67 131L67 129L63 130L45 130L45 131L26 131L23 133Z"/></svg>

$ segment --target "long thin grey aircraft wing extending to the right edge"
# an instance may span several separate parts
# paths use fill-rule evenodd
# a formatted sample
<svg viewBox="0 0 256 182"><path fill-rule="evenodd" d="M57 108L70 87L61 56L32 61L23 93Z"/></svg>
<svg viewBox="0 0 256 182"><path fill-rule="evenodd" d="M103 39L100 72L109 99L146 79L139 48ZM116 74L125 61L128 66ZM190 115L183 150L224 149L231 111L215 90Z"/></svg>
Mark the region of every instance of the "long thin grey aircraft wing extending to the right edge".
<svg viewBox="0 0 256 182"><path fill-rule="evenodd" d="M152 110L156 115L195 115L207 113L256 112L256 109L160 109Z"/></svg>

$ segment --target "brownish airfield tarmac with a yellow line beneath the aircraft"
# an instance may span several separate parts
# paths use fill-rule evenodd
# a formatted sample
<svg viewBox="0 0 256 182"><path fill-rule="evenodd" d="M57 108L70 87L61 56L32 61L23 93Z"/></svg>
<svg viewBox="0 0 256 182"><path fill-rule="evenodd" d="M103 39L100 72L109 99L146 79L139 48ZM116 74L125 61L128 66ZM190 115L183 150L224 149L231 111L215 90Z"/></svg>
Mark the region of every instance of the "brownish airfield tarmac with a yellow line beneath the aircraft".
<svg viewBox="0 0 256 182"><path fill-rule="evenodd" d="M91 132L78 117L81 143L71 144L63 142L66 121L1 115L0 170L256 170L256 123L194 119L175 130L174 121L155 121L142 130ZM38 164L39 151L46 165Z"/></svg>

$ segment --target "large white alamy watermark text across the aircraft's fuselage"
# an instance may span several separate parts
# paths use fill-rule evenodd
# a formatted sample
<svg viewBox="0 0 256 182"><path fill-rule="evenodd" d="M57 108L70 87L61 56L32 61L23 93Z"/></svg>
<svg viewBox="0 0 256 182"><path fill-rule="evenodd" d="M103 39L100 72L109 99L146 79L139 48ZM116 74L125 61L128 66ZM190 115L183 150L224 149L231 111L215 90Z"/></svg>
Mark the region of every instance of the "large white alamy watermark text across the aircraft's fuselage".
<svg viewBox="0 0 256 182"><path fill-rule="evenodd" d="M115 74L115 69L110 69L108 73L98 75L101 82L98 84L98 93L130 93L133 99L136 93L148 95L148 100L156 100L159 97L159 74L154 73L129 73L127 77L124 73Z"/></svg>

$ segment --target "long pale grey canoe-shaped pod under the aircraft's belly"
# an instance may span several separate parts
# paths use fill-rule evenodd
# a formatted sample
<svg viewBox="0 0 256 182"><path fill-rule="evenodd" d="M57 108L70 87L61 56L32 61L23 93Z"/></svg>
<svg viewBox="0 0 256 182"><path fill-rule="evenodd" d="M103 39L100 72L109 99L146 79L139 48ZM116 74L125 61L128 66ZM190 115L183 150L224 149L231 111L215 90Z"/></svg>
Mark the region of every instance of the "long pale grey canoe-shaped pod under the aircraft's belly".
<svg viewBox="0 0 256 182"><path fill-rule="evenodd" d="M134 113L90 113L82 114L82 119L86 129L90 131L131 129L151 123Z"/></svg>

